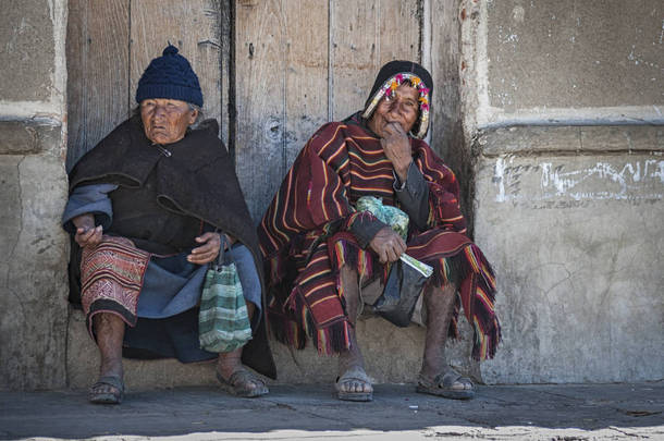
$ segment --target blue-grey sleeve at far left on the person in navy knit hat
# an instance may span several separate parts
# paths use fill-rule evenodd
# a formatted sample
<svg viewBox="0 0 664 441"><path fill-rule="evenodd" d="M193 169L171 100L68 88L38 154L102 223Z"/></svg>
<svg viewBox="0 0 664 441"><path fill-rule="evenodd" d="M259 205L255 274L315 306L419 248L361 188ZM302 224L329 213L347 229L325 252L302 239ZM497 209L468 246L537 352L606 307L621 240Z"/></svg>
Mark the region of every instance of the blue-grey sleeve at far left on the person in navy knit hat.
<svg viewBox="0 0 664 441"><path fill-rule="evenodd" d="M110 228L113 221L113 206L108 194L115 188L118 185L114 184L82 185L74 188L62 213L62 228L67 233L74 234L76 226L72 219L85 213L95 216L95 225L101 225L104 230Z"/></svg>

